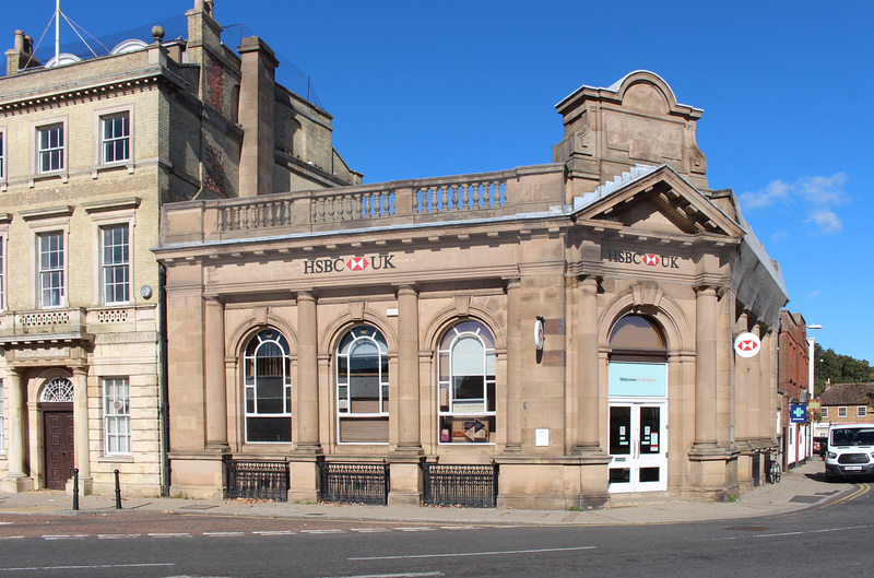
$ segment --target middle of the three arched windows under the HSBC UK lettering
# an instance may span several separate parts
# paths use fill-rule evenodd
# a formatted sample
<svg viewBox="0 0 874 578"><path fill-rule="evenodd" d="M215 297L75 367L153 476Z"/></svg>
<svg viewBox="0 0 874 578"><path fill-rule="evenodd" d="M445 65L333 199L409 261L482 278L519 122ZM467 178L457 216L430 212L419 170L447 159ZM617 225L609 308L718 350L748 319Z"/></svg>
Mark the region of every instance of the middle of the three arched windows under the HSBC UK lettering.
<svg viewBox="0 0 874 578"><path fill-rule="evenodd" d="M389 440L389 355L386 338L358 326L336 347L336 423L341 444Z"/></svg>

